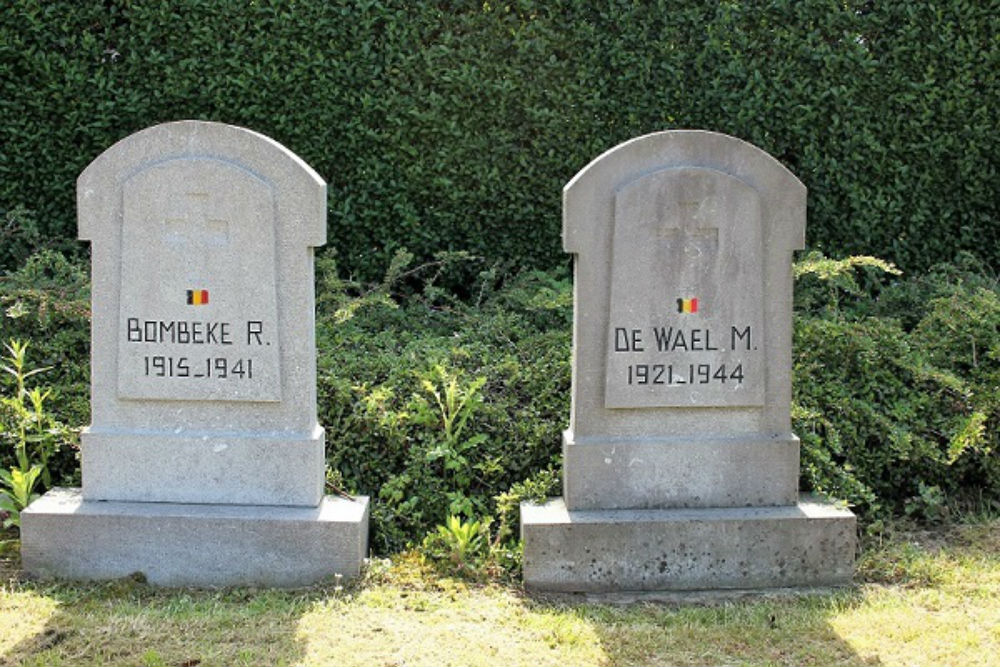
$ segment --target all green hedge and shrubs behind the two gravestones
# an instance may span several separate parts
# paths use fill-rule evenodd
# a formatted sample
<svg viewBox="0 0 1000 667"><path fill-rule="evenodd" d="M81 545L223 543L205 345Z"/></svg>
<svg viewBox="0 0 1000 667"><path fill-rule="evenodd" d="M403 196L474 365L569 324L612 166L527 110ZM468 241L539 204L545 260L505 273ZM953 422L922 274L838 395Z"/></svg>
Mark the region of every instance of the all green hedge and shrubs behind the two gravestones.
<svg viewBox="0 0 1000 667"><path fill-rule="evenodd" d="M77 174L158 122L235 123L330 184L330 484L373 496L379 553L516 571L517 501L557 492L568 414L562 185L620 141L699 127L809 187L826 255L797 265L803 488L874 531L996 508L998 34L1000 6L972 0L13 0L0 341L30 341L47 370L27 389L53 392L32 408L0 373L0 468L23 479L16 452L44 453L40 487L78 482L63 426L89 419Z"/></svg>

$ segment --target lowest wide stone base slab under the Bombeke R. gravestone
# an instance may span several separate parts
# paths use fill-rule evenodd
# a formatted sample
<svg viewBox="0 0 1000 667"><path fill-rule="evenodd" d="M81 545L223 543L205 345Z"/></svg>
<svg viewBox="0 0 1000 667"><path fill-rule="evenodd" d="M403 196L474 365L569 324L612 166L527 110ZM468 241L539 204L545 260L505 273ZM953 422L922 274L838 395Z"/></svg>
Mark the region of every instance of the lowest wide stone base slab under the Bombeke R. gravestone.
<svg viewBox="0 0 1000 667"><path fill-rule="evenodd" d="M318 507L84 500L52 489L21 513L21 560L33 576L161 586L305 586L357 577L368 498Z"/></svg>

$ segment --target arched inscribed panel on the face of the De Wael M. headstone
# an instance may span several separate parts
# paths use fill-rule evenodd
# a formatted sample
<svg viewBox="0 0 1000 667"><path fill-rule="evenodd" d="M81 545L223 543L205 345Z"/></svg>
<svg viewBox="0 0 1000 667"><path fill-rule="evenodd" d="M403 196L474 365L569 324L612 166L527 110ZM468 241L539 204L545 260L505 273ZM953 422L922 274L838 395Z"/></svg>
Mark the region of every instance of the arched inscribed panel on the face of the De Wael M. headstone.
<svg viewBox="0 0 1000 667"><path fill-rule="evenodd" d="M663 169L614 207L605 406L762 405L758 193L712 169Z"/></svg>

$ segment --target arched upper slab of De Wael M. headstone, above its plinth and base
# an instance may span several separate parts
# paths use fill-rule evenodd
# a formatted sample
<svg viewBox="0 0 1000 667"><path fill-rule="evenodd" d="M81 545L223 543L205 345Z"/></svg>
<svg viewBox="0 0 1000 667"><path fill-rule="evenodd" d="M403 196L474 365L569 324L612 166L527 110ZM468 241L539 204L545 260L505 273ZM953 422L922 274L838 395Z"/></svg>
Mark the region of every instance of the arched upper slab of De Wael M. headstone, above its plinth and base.
<svg viewBox="0 0 1000 667"><path fill-rule="evenodd" d="M563 245L575 256L567 449L790 437L791 262L805 215L806 189L791 172L722 134L647 135L584 167L563 191ZM699 299L698 311L678 313L676 300L687 298ZM747 326L749 350L733 336ZM657 334L666 341L668 328L661 351ZM622 329L628 351L616 351ZM695 383L681 384L692 365ZM732 378L737 365L742 382ZM638 384L638 366L649 367L648 384ZM708 382L699 366L708 366ZM714 377L723 366L725 382Z"/></svg>

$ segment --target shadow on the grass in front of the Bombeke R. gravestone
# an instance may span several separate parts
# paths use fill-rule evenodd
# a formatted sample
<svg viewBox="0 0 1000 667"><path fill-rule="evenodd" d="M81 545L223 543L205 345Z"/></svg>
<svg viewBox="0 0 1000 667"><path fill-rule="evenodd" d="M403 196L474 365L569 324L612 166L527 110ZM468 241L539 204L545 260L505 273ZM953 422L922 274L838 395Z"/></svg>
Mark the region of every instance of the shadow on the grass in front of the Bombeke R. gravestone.
<svg viewBox="0 0 1000 667"><path fill-rule="evenodd" d="M54 608L0 653L0 664L194 667L301 661L298 621L330 593L159 589L123 579L13 583L7 594L28 608L32 599Z"/></svg>

